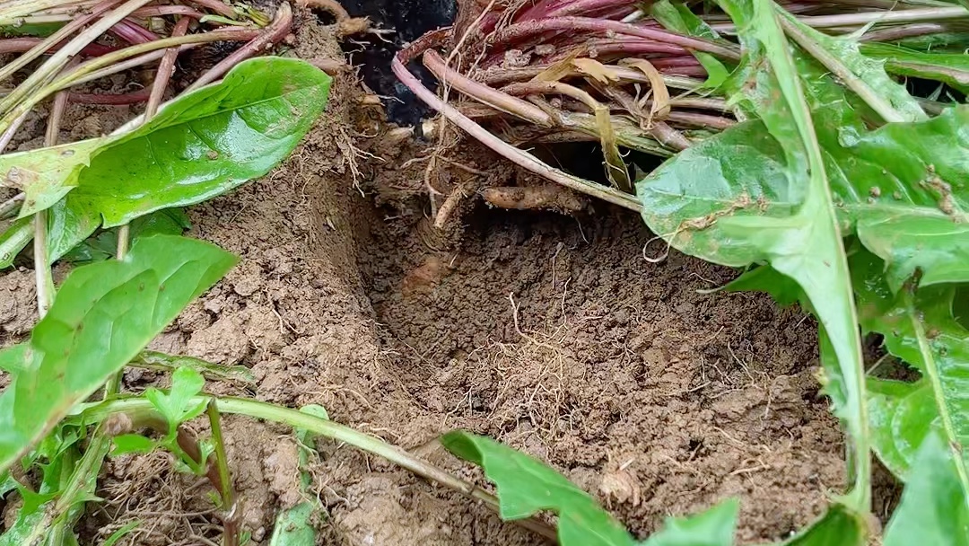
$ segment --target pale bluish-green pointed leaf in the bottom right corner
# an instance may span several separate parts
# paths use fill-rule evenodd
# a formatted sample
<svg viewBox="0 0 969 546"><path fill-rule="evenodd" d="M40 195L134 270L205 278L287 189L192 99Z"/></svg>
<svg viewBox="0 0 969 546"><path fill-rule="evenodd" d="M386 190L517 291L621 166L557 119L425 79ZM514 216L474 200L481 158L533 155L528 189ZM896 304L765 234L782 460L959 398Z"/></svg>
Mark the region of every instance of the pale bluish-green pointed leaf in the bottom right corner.
<svg viewBox="0 0 969 546"><path fill-rule="evenodd" d="M951 447L938 434L929 434L882 544L969 545L969 495L961 481Z"/></svg>

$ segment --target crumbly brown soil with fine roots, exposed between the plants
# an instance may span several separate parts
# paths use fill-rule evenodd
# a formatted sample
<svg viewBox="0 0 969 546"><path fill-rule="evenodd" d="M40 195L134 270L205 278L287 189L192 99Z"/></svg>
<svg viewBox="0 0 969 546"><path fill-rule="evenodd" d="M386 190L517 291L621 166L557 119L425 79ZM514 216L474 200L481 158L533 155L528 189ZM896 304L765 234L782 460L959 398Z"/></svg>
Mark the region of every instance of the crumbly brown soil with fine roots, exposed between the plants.
<svg viewBox="0 0 969 546"><path fill-rule="evenodd" d="M305 14L296 51L340 54ZM571 217L487 209L470 195L463 226L429 242L426 200L415 197L425 163L403 167L424 150L387 146L383 129L372 136L380 112L361 108L360 94L339 78L325 118L282 168L192 209L191 235L242 260L153 348L247 366L254 393L209 389L322 404L480 483L433 440L454 428L494 436L563 471L639 536L731 497L744 543L821 513L844 463L817 395L809 320L762 295L698 293L735 273L676 252L647 263L640 218L602 205ZM524 178L474 146L454 153L489 173L485 185ZM449 165L439 174L452 187L476 177ZM32 274L0 283L10 342L33 320ZM156 379L129 372L126 387ZM277 510L299 500L295 440L243 418L228 419L226 434L243 523L266 544ZM541 543L379 458L320 447L327 544ZM121 543L218 541L210 490L164 455L110 461L100 487L107 501L84 521L87 543L136 519Z"/></svg>

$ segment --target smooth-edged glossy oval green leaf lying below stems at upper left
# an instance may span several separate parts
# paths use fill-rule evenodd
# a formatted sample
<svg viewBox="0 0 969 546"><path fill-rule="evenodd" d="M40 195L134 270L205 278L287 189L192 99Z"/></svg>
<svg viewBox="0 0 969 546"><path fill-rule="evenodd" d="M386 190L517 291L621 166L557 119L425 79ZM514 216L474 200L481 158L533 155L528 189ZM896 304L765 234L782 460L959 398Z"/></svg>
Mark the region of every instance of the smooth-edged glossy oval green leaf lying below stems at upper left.
<svg viewBox="0 0 969 546"><path fill-rule="evenodd" d="M262 177L285 159L327 104L330 78L312 65L261 57L183 95L119 137L78 175L68 199L107 227L193 205Z"/></svg>

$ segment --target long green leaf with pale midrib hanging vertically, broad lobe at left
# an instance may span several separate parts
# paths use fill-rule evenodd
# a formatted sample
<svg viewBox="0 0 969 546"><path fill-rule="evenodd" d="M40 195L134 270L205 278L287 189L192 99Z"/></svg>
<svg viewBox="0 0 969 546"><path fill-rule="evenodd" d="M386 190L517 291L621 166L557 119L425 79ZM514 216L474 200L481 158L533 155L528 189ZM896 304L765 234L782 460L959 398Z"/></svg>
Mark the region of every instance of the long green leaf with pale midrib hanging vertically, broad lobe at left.
<svg viewBox="0 0 969 546"><path fill-rule="evenodd" d="M864 369L851 279L837 213L790 48L773 4L722 0L745 55L730 84L761 121L741 123L680 152L637 194L649 228L718 264L768 263L797 281L836 354L826 369L842 398L835 412L867 454ZM867 509L867 458L857 458L853 508Z"/></svg>

